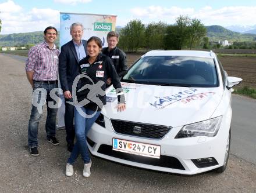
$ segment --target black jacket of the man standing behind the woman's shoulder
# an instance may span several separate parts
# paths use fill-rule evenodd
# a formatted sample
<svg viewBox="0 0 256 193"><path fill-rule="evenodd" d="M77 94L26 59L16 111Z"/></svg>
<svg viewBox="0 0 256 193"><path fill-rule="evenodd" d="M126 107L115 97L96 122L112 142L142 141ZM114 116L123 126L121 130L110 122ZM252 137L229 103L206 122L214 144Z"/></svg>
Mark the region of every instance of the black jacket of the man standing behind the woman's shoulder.
<svg viewBox="0 0 256 193"><path fill-rule="evenodd" d="M119 77L122 77L127 72L126 54L118 47L108 51L108 47L102 49L102 54L110 57L118 72Z"/></svg>

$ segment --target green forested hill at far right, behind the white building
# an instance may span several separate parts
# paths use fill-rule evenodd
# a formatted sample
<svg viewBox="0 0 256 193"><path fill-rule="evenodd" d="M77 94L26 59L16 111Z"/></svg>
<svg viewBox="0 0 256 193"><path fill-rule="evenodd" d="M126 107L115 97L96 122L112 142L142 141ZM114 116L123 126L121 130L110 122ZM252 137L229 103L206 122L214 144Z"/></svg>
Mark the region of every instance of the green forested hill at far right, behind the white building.
<svg viewBox="0 0 256 193"><path fill-rule="evenodd" d="M222 26L206 26L207 28L207 37L210 41L218 42L227 39L230 42L234 41L254 41L256 40L255 34L241 34L239 32L234 32L227 30Z"/></svg>

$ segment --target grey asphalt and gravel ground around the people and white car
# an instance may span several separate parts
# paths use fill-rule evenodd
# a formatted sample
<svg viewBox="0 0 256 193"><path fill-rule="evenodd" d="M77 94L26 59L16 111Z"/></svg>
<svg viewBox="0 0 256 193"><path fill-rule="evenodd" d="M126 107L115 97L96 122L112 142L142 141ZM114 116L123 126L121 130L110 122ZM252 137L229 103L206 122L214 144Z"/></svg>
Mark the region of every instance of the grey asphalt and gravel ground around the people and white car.
<svg viewBox="0 0 256 193"><path fill-rule="evenodd" d="M45 112L40 121L40 156L27 151L27 123L31 92L24 73L26 57L0 54L0 192L256 192L255 100L233 96L232 148L227 169L180 176L120 165L93 157L92 174L65 176L65 131L59 146L46 141Z"/></svg>

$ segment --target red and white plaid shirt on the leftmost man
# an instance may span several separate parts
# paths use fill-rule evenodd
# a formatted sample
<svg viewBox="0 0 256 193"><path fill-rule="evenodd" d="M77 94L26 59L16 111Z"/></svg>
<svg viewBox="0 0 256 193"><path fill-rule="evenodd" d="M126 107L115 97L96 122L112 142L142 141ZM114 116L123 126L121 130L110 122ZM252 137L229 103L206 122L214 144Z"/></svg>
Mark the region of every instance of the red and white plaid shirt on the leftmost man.
<svg viewBox="0 0 256 193"><path fill-rule="evenodd" d="M49 49L47 42L39 43L29 50L26 71L34 71L34 81L56 81L58 79L59 50Z"/></svg>

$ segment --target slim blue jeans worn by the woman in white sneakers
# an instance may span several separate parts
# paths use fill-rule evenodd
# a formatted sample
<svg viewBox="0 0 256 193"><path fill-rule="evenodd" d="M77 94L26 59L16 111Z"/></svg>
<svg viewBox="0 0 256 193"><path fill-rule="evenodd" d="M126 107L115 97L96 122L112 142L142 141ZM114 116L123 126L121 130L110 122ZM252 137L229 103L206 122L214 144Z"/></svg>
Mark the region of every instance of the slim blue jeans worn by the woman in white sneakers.
<svg viewBox="0 0 256 193"><path fill-rule="evenodd" d="M81 110L87 115L93 115L95 111L90 110L86 107L81 107ZM77 108L74 110L74 132L76 133L76 143L74 144L74 148L70 155L70 158L67 160L67 163L73 165L74 161L76 161L77 156L79 153L84 161L84 163L90 162L90 155L87 148L86 137L88 131L91 129L91 126L96 121L99 116L100 111L96 111L95 115L92 118L84 118L81 115Z"/></svg>

